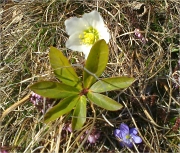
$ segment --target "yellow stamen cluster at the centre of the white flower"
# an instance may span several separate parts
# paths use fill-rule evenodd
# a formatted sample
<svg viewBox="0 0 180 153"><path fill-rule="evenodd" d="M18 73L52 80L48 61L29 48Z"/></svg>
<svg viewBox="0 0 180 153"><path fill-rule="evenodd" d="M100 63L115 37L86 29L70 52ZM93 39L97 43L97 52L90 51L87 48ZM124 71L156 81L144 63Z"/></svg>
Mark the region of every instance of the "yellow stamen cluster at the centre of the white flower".
<svg viewBox="0 0 180 153"><path fill-rule="evenodd" d="M99 39L99 33L93 27L89 27L79 35L79 38L81 39L81 44L93 45Z"/></svg>

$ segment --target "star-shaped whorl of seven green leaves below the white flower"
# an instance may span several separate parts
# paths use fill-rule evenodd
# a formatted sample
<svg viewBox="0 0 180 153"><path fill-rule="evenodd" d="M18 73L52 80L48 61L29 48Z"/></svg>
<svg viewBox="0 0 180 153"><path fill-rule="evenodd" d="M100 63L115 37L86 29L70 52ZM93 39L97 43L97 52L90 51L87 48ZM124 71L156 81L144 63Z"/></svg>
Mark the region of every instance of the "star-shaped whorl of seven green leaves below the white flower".
<svg viewBox="0 0 180 153"><path fill-rule="evenodd" d="M54 47L50 48L50 64L61 82L40 81L30 87L33 92L43 97L61 99L45 114L45 123L73 110L72 130L78 130L86 121L87 102L110 111L123 107L120 103L100 93L127 88L132 84L134 78L100 79L99 77L106 68L108 56L109 49L105 40L97 41L90 50L81 80L62 52Z"/></svg>

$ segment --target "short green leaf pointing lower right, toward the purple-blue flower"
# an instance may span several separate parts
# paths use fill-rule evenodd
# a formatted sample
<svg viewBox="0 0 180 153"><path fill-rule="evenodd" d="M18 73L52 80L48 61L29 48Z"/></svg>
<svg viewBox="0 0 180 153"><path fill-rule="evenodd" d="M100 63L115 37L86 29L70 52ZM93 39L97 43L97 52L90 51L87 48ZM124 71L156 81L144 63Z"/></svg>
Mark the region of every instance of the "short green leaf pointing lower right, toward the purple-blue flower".
<svg viewBox="0 0 180 153"><path fill-rule="evenodd" d="M106 110L116 111L123 107L120 103L99 93L88 92L87 97L94 104Z"/></svg>

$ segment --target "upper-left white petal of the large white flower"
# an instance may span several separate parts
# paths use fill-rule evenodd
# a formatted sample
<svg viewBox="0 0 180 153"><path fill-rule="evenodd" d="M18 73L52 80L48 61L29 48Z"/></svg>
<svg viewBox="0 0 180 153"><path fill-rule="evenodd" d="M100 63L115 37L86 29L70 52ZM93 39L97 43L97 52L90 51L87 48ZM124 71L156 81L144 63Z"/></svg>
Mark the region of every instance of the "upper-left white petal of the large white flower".
<svg viewBox="0 0 180 153"><path fill-rule="evenodd" d="M86 20L82 18L73 17L65 21L66 32L68 35L72 35L75 32L82 32L88 26Z"/></svg>

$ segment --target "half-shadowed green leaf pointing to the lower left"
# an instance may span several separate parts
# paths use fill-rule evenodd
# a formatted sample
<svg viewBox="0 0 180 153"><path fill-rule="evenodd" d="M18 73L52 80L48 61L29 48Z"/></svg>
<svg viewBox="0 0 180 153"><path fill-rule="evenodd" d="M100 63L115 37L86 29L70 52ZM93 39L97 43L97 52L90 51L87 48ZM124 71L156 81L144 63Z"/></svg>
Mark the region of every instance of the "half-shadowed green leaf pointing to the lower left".
<svg viewBox="0 0 180 153"><path fill-rule="evenodd" d="M48 123L57 119L58 117L70 112L77 104L79 96L71 96L61 100L57 105L51 108L44 117L44 122Z"/></svg>

